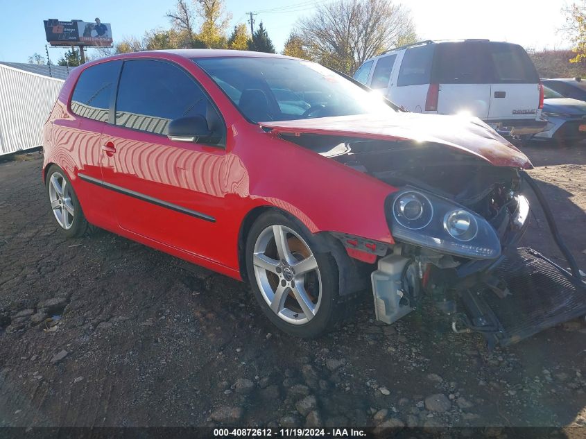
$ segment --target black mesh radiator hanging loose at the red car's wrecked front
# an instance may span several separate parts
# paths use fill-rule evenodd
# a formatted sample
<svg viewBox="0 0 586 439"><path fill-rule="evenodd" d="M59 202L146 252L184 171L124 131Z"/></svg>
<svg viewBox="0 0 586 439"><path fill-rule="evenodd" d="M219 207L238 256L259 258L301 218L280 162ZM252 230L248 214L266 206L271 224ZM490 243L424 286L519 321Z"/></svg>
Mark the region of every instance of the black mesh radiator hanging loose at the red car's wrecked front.
<svg viewBox="0 0 586 439"><path fill-rule="evenodd" d="M454 315L454 331L481 332L490 344L504 346L586 315L586 285L531 248L510 252L494 275L506 294L483 284L463 290L465 311Z"/></svg>

